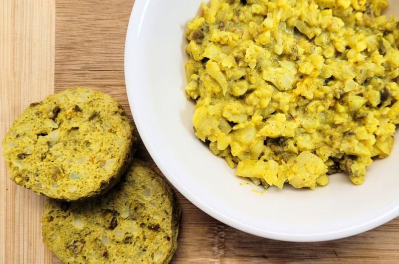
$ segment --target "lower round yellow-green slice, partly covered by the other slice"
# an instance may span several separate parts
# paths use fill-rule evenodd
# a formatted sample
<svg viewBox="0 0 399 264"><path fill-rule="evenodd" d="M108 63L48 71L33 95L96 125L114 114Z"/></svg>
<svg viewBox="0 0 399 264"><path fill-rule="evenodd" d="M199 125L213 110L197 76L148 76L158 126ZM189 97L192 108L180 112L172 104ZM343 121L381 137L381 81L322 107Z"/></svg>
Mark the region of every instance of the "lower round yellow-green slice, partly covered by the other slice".
<svg viewBox="0 0 399 264"><path fill-rule="evenodd" d="M49 200L43 241L63 263L169 263L181 209L172 187L134 160L121 181L88 201Z"/></svg>

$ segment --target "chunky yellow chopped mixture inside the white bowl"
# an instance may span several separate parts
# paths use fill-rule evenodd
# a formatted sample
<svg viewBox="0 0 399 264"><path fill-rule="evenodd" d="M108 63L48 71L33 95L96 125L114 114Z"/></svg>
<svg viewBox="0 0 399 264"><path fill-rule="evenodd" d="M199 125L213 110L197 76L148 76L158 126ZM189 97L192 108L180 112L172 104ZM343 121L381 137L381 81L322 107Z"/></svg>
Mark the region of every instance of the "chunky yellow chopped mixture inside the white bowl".
<svg viewBox="0 0 399 264"><path fill-rule="evenodd" d="M399 124L387 0L211 0L188 24L198 138L255 184L362 184Z"/></svg>

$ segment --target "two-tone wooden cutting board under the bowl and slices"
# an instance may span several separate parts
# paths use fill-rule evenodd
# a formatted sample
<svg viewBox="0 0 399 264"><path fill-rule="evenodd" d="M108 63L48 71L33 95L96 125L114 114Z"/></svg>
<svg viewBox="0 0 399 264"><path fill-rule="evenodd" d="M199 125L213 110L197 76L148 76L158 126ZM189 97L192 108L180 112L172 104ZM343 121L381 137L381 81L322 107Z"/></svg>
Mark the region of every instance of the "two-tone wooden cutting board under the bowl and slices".
<svg viewBox="0 0 399 264"><path fill-rule="evenodd" d="M102 90L129 109L123 54L133 2L1 0L1 141L30 102L68 87ZM142 143L137 157L151 160ZM399 262L399 219L338 241L288 243L237 231L178 196L183 216L176 264ZM8 179L1 157L0 264L60 263L41 242L44 200Z"/></svg>

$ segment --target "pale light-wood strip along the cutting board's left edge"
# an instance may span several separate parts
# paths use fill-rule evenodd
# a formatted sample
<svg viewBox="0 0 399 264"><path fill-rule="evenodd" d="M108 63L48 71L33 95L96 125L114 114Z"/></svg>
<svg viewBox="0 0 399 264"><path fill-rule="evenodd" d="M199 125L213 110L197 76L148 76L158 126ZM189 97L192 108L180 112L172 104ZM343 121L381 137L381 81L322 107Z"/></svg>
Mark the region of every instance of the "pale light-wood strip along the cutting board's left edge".
<svg viewBox="0 0 399 264"><path fill-rule="evenodd" d="M0 142L14 119L54 92L53 0L0 3ZM50 263L41 242L44 198L12 183L0 150L0 263Z"/></svg>

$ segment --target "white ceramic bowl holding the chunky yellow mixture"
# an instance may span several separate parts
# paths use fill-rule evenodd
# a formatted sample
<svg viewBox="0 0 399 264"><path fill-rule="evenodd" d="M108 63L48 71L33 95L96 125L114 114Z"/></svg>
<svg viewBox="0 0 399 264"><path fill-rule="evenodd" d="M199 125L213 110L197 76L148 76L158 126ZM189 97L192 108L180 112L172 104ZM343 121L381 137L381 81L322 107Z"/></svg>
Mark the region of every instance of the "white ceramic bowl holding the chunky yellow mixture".
<svg viewBox="0 0 399 264"><path fill-rule="evenodd" d="M196 138L186 100L184 33L201 0L136 0L126 49L126 87L140 135L159 168L193 204L241 231L276 240L344 238L399 216L399 140L389 158L368 168L366 182L331 176L310 191L261 188L234 176ZM399 2L394 5L399 8ZM394 10L398 10L394 8ZM255 191L254 191L255 190Z"/></svg>

